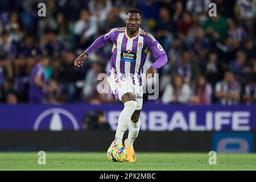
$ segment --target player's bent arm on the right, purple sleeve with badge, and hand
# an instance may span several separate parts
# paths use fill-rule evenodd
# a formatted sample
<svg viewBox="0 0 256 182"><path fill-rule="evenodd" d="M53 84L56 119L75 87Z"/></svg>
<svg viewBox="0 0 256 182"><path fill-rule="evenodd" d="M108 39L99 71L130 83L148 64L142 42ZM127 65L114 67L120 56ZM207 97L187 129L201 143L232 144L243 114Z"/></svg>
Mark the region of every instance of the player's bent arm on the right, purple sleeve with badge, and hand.
<svg viewBox="0 0 256 182"><path fill-rule="evenodd" d="M148 37L147 44L150 52L156 59L155 63L151 64L150 68L148 68L146 72L146 77L150 78L154 77L156 69L163 67L163 65L167 63L168 57L157 40Z"/></svg>

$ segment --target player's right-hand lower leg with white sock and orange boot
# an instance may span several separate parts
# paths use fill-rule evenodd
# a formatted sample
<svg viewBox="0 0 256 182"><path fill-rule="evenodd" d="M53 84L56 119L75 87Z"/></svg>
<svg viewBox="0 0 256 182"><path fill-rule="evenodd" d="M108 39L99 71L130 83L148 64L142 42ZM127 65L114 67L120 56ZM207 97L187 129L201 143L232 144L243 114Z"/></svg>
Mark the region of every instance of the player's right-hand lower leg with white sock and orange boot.
<svg viewBox="0 0 256 182"><path fill-rule="evenodd" d="M127 150L127 158L128 162L136 161L136 154L133 148L133 142L135 138L138 137L139 127L141 126L141 122L139 121L139 115L141 114L141 110L135 110L133 115L131 116L131 121L129 123L129 134L128 138L125 140L124 145Z"/></svg>

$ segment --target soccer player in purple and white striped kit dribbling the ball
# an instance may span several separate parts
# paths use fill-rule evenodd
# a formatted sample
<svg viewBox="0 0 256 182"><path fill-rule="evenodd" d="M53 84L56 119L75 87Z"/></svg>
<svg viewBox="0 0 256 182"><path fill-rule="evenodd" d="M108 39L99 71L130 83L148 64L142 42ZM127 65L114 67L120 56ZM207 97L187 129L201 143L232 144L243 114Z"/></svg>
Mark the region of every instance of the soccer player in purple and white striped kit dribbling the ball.
<svg viewBox="0 0 256 182"><path fill-rule="evenodd" d="M163 47L148 32L142 30L142 13L138 9L127 11L126 27L113 28L108 34L101 35L82 55L74 61L75 66L82 66L86 57L108 42L113 43L110 60L109 85L123 102L124 108L118 118L115 140L112 144L122 144L123 134L129 126L128 138L124 142L128 162L135 162L133 142L138 137L141 125L139 115L143 99L143 65L148 51L156 58L155 63L147 69L146 77L154 77L156 69L167 63L167 55Z"/></svg>

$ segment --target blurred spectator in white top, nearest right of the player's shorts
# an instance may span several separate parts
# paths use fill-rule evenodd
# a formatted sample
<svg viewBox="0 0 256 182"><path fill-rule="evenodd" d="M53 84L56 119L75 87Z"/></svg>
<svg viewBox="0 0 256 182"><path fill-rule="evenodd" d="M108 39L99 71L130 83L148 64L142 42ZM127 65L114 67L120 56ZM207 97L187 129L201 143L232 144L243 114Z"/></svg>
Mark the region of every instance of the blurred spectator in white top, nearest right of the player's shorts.
<svg viewBox="0 0 256 182"><path fill-rule="evenodd" d="M180 75L172 77L172 83L166 86L162 102L163 104L187 104L191 99L191 88L187 83L183 83Z"/></svg>

